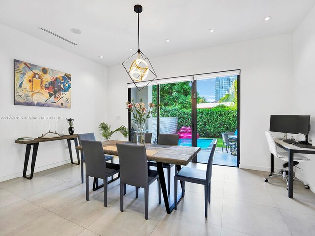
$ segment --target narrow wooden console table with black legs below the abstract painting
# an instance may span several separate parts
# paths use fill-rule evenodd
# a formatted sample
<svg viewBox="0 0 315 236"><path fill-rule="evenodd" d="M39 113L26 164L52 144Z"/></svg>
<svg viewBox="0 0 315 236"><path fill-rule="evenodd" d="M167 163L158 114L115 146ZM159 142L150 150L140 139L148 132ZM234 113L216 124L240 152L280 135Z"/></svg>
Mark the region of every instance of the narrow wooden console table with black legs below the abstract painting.
<svg viewBox="0 0 315 236"><path fill-rule="evenodd" d="M53 138L36 138L34 140L15 140L16 144L26 144L23 177L27 178L27 179L33 178L39 143L48 142L48 141L55 141L55 140L64 140L64 139L66 139L68 142L68 148L69 148L71 163L75 164L75 165L80 165L79 151L76 151L78 162L75 163L75 162L73 162L73 159L72 159L71 140L74 140L75 146L78 146L78 136L76 134L63 135L61 137L53 137ZM34 147L33 147L33 154L32 154L31 174L30 174L30 177L28 177L26 175L26 171L28 169L29 157L30 157L30 152L31 152L32 146L34 146Z"/></svg>

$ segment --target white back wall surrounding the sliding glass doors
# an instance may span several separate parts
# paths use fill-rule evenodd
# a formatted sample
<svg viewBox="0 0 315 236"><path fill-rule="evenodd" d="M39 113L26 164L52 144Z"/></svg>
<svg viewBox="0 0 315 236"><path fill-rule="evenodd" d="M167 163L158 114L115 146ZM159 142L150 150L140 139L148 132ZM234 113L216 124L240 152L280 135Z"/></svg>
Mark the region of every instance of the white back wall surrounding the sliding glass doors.
<svg viewBox="0 0 315 236"><path fill-rule="evenodd" d="M150 55L148 55L150 58ZM291 114L287 94L292 86L292 35L244 41L220 47L150 58L158 78L241 69L242 168L270 170L270 153L264 137L271 114ZM114 127L127 125L127 87L121 65L108 68L108 116ZM122 119L117 120L116 116ZM116 135L113 138L122 139Z"/></svg>

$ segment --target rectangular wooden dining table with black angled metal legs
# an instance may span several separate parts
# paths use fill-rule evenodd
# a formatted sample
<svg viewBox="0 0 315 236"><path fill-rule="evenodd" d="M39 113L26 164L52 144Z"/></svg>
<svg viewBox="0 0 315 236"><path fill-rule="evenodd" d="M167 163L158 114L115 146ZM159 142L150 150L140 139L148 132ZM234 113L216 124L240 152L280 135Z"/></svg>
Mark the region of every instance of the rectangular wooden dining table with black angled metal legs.
<svg viewBox="0 0 315 236"><path fill-rule="evenodd" d="M104 153L107 155L118 156L116 143L132 143L128 141L104 141L102 146ZM135 143L133 143L136 145ZM166 212L170 214L175 207L175 201L179 202L182 199L183 183L180 182L181 188L178 188L177 199L174 199L173 195L167 193L163 163L175 164L177 171L181 169L181 166L186 166L201 150L199 147L179 146L179 145L161 145L161 144L145 144L147 158L149 161L157 162L157 169L159 175L159 181L161 184L163 199L165 203ZM77 146L76 150L84 151L82 146ZM132 153L130 153L130 156Z"/></svg>

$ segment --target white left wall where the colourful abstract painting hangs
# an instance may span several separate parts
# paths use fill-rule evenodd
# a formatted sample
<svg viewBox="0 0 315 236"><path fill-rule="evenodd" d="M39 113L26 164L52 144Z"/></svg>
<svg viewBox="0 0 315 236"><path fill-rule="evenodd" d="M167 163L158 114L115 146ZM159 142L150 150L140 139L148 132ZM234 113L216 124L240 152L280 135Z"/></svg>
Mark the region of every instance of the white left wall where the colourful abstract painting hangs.
<svg viewBox="0 0 315 236"><path fill-rule="evenodd" d="M38 137L42 129L41 121L1 117L63 116L57 131L64 130L66 134L65 118L73 118L75 133L95 132L100 139L97 127L107 121L107 68L2 24L0 32L0 181L4 181L22 176L26 145L15 144L14 140L21 136ZM14 59L70 73L71 109L13 105ZM54 121L51 126L55 127ZM45 129L48 129L47 122ZM65 144L66 140L40 143L35 172L68 163L69 151ZM30 166L31 161L29 169Z"/></svg>

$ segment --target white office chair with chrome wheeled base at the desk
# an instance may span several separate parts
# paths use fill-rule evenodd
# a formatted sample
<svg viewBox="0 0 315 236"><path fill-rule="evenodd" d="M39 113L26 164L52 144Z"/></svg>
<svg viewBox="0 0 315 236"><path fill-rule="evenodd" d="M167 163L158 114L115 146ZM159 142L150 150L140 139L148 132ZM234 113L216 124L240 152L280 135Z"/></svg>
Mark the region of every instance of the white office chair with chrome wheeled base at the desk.
<svg viewBox="0 0 315 236"><path fill-rule="evenodd" d="M266 177L264 180L265 182L268 182L269 178L273 178L273 177L283 177L284 180L286 181L286 185L289 185L289 176L288 176L288 170L286 169L289 166L289 158L287 156L287 152L283 151L283 152L279 152L277 150L277 145L275 143L274 138L272 137L272 134L268 131L265 131L265 135L267 138L267 142L268 142L268 147L269 147L269 151L277 158L279 158L280 160L285 161L285 163L282 165L283 166L283 170L282 173L276 173L276 172L272 172L269 174L269 177ZM310 161L310 159L306 158L305 156L302 156L300 154L295 153L294 154L294 159L293 159L293 166L298 165L301 161ZM297 167L297 166L296 166ZM299 167L297 167L299 168ZM301 168L299 168L301 169ZM303 182L302 180L293 177L294 180L302 182L304 184L304 187L306 189L309 189L309 185L306 184L305 182Z"/></svg>

